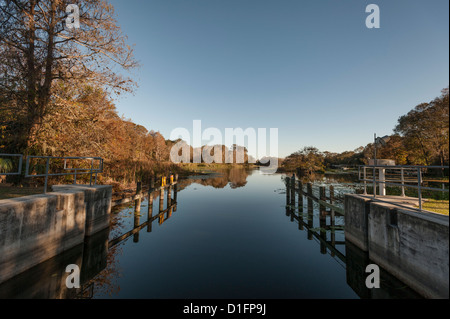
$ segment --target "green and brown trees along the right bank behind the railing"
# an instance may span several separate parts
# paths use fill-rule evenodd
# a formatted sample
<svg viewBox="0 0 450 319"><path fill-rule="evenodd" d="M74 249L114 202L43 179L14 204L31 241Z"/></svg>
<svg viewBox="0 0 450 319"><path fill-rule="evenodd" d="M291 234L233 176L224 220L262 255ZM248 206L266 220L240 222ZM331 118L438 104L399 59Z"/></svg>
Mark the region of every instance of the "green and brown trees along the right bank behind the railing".
<svg viewBox="0 0 450 319"><path fill-rule="evenodd" d="M449 165L449 89L401 116L393 133L386 145L377 146L377 158L393 159L397 165ZM370 143L354 151L332 153L308 146L286 157L280 170L312 174L338 165L368 164L374 158L374 147Z"/></svg>

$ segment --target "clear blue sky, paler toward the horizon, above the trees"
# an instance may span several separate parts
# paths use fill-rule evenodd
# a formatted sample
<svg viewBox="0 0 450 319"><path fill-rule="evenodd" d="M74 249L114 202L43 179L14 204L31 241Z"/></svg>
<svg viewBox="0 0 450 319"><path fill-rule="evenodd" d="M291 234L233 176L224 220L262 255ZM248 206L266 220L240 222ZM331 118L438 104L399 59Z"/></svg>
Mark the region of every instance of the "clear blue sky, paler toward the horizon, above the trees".
<svg viewBox="0 0 450 319"><path fill-rule="evenodd" d="M280 156L353 150L449 85L448 0L110 2L141 63L118 111L166 138L201 120L278 128Z"/></svg>

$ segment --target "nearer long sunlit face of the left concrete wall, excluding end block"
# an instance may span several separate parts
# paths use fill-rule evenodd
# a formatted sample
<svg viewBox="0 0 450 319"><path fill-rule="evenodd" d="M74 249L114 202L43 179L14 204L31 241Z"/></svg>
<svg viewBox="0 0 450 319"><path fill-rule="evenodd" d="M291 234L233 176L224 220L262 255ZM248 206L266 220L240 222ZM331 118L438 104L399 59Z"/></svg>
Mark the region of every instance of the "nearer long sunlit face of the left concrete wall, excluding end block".
<svg viewBox="0 0 450 319"><path fill-rule="evenodd" d="M83 242L82 192L0 201L0 283Z"/></svg>

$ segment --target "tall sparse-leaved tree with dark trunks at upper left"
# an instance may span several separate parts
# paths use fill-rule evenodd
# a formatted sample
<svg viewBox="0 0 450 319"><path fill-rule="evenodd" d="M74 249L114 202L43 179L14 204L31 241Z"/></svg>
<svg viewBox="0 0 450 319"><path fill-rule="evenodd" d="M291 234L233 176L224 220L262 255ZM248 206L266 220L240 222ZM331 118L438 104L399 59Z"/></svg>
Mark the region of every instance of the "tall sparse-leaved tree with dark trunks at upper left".
<svg viewBox="0 0 450 319"><path fill-rule="evenodd" d="M79 8L79 28L67 27L69 4ZM133 50L106 1L0 0L0 23L0 123L11 153L33 152L59 82L133 88L117 72L136 67Z"/></svg>

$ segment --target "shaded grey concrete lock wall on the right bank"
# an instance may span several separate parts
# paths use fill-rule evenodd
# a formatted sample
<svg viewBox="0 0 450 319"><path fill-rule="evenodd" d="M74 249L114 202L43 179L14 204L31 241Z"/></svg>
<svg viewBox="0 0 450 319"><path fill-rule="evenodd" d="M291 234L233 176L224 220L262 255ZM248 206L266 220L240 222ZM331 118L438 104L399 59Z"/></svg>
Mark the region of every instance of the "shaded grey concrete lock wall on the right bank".
<svg viewBox="0 0 450 319"><path fill-rule="evenodd" d="M449 297L449 218L346 196L346 238L358 247L367 240L369 258L426 298ZM358 215L360 215L358 217ZM361 215L363 217L361 217ZM365 216L365 217L364 217ZM347 220L367 220L367 233ZM353 225L356 223L353 222ZM356 229L356 231L355 231Z"/></svg>

